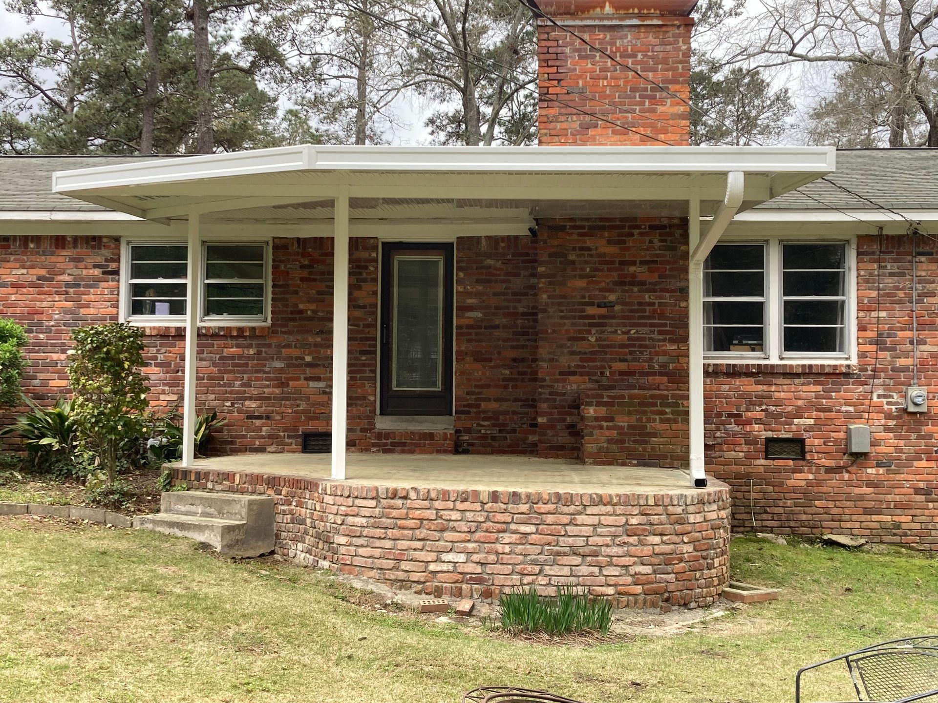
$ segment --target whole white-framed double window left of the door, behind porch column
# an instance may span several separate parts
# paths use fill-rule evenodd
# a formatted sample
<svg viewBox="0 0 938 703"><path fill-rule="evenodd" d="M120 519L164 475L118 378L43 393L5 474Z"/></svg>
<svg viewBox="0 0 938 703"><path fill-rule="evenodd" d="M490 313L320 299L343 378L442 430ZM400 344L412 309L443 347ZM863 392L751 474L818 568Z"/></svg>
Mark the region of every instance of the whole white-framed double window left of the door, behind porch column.
<svg viewBox="0 0 938 703"><path fill-rule="evenodd" d="M121 310L126 322L186 320L189 290L186 242L129 241L121 262ZM199 321L265 324L270 315L270 247L266 241L204 241Z"/></svg>

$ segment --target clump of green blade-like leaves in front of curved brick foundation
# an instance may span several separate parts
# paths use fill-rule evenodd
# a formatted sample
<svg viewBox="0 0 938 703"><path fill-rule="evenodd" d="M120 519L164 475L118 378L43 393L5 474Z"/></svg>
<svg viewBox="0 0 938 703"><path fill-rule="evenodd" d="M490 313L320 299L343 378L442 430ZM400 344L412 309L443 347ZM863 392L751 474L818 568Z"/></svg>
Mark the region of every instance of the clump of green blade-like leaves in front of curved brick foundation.
<svg viewBox="0 0 938 703"><path fill-rule="evenodd" d="M512 635L546 633L568 635L595 632L607 635L613 621L613 604L606 598L590 598L585 591L561 586L556 596L543 596L537 588L502 593L499 610L502 627Z"/></svg>

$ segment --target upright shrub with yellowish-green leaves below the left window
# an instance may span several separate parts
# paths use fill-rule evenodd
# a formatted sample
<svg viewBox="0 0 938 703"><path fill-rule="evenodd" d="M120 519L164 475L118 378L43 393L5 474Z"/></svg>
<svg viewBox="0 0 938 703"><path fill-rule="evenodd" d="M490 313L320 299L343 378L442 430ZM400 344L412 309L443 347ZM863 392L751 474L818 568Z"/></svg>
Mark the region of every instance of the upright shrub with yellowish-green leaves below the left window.
<svg viewBox="0 0 938 703"><path fill-rule="evenodd" d="M107 485L116 480L118 458L129 443L139 446L146 393L143 330L123 322L82 327L72 333L72 412L79 446L98 457Z"/></svg>

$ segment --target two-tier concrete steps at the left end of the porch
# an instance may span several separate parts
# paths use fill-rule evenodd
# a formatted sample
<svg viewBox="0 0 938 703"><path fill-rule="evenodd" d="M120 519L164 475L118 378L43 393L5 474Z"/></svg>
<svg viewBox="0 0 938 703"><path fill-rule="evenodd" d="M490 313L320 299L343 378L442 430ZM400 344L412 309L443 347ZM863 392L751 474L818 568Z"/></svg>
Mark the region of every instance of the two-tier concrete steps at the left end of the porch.
<svg viewBox="0 0 938 703"><path fill-rule="evenodd" d="M229 557L258 557L274 548L274 501L211 491L163 493L160 512L134 527L189 537Z"/></svg>

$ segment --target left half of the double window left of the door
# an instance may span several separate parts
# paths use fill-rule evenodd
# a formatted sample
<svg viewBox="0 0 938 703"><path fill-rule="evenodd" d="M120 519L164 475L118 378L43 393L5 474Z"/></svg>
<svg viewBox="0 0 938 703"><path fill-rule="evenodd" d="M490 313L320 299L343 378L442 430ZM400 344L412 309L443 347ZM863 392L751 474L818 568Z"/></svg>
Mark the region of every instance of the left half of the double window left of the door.
<svg viewBox="0 0 938 703"><path fill-rule="evenodd" d="M187 251L185 242L130 242L125 249L128 322L185 320Z"/></svg>

